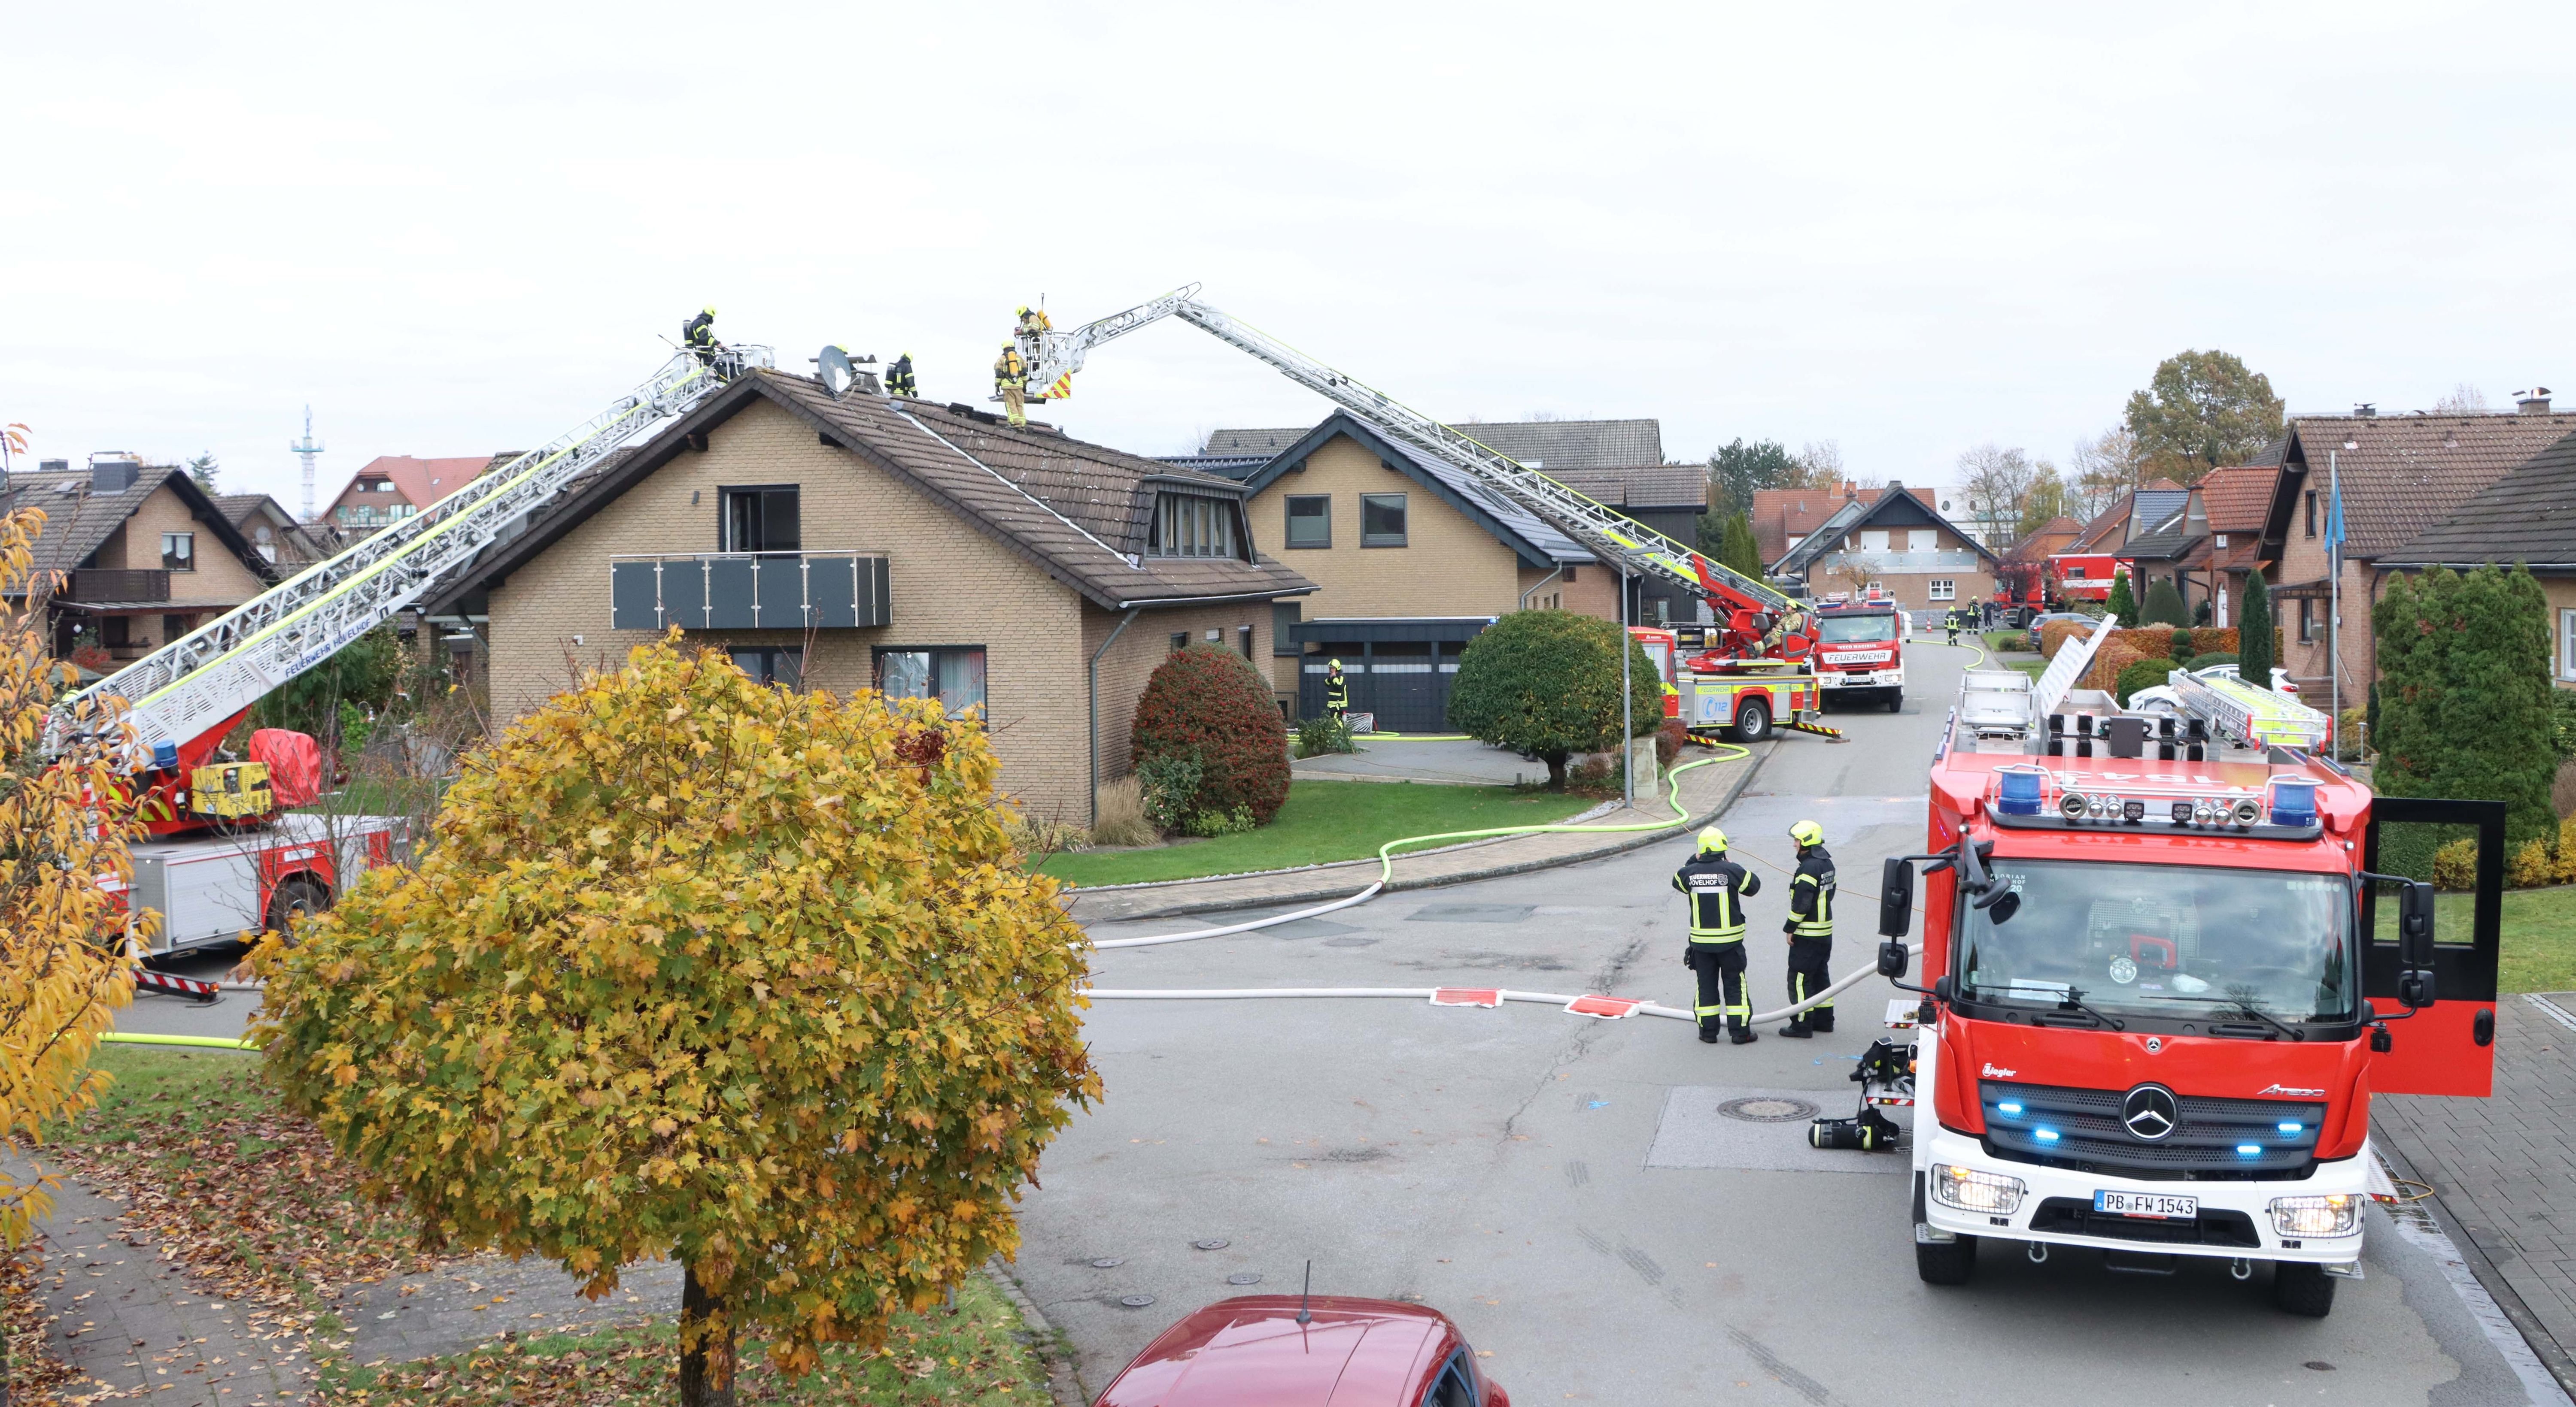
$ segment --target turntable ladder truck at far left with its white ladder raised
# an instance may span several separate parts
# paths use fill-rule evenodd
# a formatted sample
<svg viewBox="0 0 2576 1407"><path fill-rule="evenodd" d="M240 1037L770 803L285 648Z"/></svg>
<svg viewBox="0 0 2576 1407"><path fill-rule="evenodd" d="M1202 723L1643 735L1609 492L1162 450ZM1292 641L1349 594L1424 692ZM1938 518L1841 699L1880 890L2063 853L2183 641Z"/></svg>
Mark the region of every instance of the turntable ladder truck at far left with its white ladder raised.
<svg viewBox="0 0 2576 1407"><path fill-rule="evenodd" d="M252 760L224 760L224 737L260 696L394 618L438 580L526 526L577 474L662 420L685 415L752 366L770 366L770 350L675 356L546 446L67 696L54 714L57 745L80 727L85 706L126 701L131 742L116 745L126 750L121 765L134 786L149 791L149 840L134 845L134 881L111 886L121 889L129 915L162 915L149 953L134 943L134 956L283 928L299 912L327 907L358 868L386 861L399 822L294 812L273 786L270 760L258 747ZM149 966L137 972L137 984L214 995L209 982Z"/></svg>

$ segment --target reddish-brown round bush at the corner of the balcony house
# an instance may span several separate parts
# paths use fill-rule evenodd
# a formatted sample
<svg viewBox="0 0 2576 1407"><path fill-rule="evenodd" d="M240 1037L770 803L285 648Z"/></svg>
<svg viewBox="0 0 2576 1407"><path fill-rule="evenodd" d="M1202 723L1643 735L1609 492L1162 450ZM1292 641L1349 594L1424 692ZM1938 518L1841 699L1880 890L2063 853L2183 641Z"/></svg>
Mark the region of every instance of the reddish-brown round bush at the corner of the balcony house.
<svg viewBox="0 0 2576 1407"><path fill-rule="evenodd" d="M1136 701L1128 747L1139 765L1198 760L1190 814L1244 807L1270 825L1288 801L1288 724L1270 680L1231 649L1193 644L1157 665Z"/></svg>

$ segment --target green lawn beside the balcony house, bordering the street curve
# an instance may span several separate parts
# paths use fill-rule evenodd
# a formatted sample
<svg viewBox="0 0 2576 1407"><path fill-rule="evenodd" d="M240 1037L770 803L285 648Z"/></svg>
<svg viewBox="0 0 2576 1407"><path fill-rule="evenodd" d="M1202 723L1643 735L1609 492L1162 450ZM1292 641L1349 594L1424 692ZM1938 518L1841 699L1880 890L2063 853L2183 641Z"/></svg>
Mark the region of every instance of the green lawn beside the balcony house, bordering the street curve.
<svg viewBox="0 0 2576 1407"><path fill-rule="evenodd" d="M1409 781L1291 781L1270 825L1157 850L1051 856L1043 874L1072 884L1139 884L1255 868L1314 866L1376 856L1399 835L1548 825L1592 807L1595 796L1510 786L1430 786Z"/></svg>

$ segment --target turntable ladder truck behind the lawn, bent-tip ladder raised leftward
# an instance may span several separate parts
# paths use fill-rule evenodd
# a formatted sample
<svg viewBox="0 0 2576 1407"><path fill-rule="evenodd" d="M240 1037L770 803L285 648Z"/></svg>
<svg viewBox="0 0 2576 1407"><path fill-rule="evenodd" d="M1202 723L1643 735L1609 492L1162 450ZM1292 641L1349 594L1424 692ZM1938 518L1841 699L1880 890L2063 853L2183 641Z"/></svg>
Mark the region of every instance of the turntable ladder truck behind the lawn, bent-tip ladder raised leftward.
<svg viewBox="0 0 2576 1407"><path fill-rule="evenodd" d="M1015 345L1020 361L1028 363L1028 384L1043 387L1043 394L1033 399L1069 397L1072 376L1082 371L1092 348L1164 317L1177 317L1267 363L1280 376L1347 410L1373 430L1443 464L1455 464L1484 490L1525 505L1602 562L1613 562L1625 572L1662 577L1708 598L1723 631L1721 647L1690 660L1690 667L1680 673L1674 685L1680 691L1680 714L1692 732L1728 732L1739 740L1759 740L1770 737L1772 727L1788 727L1832 740L1842 737L1837 729L1816 722L1819 693L1816 675L1808 667L1814 624L1801 603L1770 582L1713 562L1620 515L1610 505L1406 407L1386 392L1345 376L1288 343L1198 302L1198 283L1064 332L1018 332Z"/></svg>

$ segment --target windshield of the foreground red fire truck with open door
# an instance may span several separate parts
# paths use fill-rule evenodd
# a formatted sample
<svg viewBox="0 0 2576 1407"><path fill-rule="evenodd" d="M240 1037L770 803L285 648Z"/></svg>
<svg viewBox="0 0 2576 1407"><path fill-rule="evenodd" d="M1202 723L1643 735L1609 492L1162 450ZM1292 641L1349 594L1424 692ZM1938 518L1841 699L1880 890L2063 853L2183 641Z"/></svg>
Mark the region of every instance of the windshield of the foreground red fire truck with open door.
<svg viewBox="0 0 2576 1407"><path fill-rule="evenodd" d="M2022 907L1960 907L1960 997L2105 1013L2352 1020L2352 884L2339 874L1991 861Z"/></svg>

